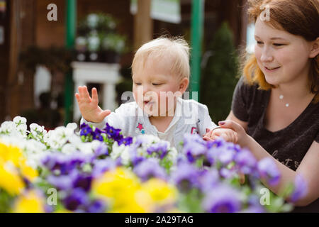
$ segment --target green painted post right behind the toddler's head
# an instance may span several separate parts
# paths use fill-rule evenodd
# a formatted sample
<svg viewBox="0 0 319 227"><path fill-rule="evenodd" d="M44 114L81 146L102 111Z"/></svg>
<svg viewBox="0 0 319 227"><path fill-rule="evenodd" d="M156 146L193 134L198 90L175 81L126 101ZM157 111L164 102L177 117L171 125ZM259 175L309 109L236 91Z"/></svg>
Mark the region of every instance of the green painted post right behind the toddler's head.
<svg viewBox="0 0 319 227"><path fill-rule="evenodd" d="M200 94L201 42L203 40L204 0L193 0L191 6L191 82L190 92ZM193 95L191 98L194 99ZM199 101L199 100L198 100Z"/></svg>

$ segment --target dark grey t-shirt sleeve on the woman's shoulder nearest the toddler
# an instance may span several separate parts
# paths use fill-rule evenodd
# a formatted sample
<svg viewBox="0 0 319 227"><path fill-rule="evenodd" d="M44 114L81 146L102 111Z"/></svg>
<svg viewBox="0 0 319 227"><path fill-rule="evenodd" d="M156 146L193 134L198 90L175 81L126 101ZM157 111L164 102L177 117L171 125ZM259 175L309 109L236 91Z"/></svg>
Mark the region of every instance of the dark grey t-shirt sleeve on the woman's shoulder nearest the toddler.
<svg viewBox="0 0 319 227"><path fill-rule="evenodd" d="M249 85L244 83L243 77L237 82L233 93L232 111L240 121L248 121L248 104L250 104Z"/></svg>

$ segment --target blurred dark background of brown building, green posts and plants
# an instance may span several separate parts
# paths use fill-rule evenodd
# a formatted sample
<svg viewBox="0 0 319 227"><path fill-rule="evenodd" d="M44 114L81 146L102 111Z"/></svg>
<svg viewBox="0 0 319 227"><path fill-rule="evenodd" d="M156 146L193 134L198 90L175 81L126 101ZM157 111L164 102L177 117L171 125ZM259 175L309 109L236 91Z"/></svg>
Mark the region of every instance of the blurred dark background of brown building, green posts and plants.
<svg viewBox="0 0 319 227"><path fill-rule="evenodd" d="M116 109L131 91L140 45L180 35L191 45L191 84L213 121L230 111L240 50L252 51L247 0L0 0L0 123L25 116L47 129L79 122L86 84Z"/></svg>

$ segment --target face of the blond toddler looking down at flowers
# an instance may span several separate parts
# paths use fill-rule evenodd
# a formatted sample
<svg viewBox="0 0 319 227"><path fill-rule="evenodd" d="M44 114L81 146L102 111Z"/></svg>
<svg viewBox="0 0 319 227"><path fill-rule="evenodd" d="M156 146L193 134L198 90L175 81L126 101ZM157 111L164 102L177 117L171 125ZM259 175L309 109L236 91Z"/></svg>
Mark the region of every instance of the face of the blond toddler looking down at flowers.
<svg viewBox="0 0 319 227"><path fill-rule="evenodd" d="M180 79L169 70L169 62L147 60L133 69L133 94L138 106L151 116L174 116Z"/></svg>

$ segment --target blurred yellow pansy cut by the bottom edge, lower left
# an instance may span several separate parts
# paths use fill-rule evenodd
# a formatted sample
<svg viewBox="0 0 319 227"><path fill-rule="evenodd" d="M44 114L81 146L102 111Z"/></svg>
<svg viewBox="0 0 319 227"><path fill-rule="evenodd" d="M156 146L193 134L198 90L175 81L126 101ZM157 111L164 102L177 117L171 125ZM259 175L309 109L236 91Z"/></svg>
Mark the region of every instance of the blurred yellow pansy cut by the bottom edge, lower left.
<svg viewBox="0 0 319 227"><path fill-rule="evenodd" d="M21 194L13 206L13 213L43 213L44 199L35 191Z"/></svg>

